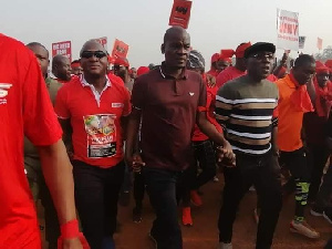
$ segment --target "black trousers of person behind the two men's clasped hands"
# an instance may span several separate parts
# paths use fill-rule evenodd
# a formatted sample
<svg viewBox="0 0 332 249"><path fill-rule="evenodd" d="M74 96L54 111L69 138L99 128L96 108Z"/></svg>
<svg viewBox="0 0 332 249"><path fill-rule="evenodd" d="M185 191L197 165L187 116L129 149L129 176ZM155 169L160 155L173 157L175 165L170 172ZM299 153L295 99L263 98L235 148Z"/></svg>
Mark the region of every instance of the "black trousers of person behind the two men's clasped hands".
<svg viewBox="0 0 332 249"><path fill-rule="evenodd" d="M196 162L203 172L194 181L193 189L198 189L216 175L216 156L210 141L193 142Z"/></svg>

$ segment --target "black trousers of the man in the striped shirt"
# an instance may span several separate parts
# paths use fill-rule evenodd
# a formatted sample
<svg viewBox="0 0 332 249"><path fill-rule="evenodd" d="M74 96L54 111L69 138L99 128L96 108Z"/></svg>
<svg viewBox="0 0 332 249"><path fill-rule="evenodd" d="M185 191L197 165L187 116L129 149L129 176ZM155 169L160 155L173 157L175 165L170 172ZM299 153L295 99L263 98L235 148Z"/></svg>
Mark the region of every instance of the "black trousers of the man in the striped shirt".
<svg viewBox="0 0 332 249"><path fill-rule="evenodd" d="M219 241L231 242L232 225L238 206L251 185L260 198L257 249L268 249L281 209L280 167L271 152L262 156L237 154L236 167L225 168L222 207L219 214Z"/></svg>

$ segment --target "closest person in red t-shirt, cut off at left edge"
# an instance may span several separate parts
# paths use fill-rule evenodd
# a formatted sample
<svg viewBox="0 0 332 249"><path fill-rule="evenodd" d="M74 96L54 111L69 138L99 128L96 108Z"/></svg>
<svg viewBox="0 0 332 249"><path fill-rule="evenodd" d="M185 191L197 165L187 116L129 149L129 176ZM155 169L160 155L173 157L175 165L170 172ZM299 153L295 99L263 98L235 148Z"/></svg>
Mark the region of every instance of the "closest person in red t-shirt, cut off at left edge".
<svg viewBox="0 0 332 249"><path fill-rule="evenodd" d="M0 34L0 248L41 248L23 167L23 134L38 147L62 226L76 218L72 167L40 65L22 43ZM77 227L76 227L77 229ZM81 249L77 238L64 248Z"/></svg>

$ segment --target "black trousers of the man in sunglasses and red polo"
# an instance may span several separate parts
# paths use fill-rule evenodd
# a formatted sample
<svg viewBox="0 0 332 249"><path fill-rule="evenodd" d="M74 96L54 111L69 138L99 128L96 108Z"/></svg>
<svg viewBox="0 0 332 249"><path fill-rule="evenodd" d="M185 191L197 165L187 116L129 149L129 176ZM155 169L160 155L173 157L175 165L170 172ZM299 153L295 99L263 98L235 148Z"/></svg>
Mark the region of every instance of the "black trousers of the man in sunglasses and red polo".
<svg viewBox="0 0 332 249"><path fill-rule="evenodd" d="M73 162L76 208L91 249L101 249L103 240L113 237L116 230L124 170L123 162L111 168Z"/></svg>

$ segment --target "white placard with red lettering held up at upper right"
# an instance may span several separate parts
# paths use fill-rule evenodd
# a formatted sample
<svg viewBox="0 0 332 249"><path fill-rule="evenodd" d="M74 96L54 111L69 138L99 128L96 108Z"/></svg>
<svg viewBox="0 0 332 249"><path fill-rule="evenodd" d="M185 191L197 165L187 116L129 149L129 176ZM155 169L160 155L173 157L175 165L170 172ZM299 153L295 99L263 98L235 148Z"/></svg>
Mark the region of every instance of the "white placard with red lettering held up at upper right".
<svg viewBox="0 0 332 249"><path fill-rule="evenodd" d="M299 13L277 10L277 46L283 50L299 50Z"/></svg>

